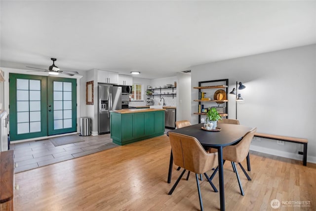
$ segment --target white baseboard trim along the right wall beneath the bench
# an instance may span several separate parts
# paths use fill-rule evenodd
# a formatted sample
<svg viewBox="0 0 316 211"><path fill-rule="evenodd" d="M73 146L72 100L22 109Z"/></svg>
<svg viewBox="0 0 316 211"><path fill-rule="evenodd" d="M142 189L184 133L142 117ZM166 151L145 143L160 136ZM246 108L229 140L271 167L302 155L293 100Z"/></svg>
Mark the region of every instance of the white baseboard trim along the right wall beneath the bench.
<svg viewBox="0 0 316 211"><path fill-rule="evenodd" d="M290 158L290 159L299 160L299 161L303 160L303 155L294 154L294 153L290 153L290 152L284 152L284 151L275 150L275 149L266 148L266 147L259 147L259 146L250 145L250 150L256 151L256 152L266 153L269 155L276 155L276 156L283 157L283 158ZM315 156L307 156L307 162L316 164L316 157Z"/></svg>

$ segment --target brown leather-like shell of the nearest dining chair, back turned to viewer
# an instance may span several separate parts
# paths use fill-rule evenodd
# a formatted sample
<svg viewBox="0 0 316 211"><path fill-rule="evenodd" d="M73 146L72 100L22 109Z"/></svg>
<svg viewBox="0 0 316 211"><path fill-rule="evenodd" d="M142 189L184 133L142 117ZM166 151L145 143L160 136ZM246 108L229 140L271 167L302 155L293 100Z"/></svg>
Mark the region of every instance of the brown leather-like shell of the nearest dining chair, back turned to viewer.
<svg viewBox="0 0 316 211"><path fill-rule="evenodd" d="M216 153L207 153L192 136L169 132L175 165L195 173L204 173L218 165Z"/></svg>

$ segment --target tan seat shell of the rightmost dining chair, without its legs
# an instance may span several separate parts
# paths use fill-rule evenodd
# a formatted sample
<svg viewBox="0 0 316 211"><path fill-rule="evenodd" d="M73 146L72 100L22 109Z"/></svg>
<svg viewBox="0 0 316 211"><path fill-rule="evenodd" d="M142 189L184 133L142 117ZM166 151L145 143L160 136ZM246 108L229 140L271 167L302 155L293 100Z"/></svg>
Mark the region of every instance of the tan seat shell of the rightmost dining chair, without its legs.
<svg viewBox="0 0 316 211"><path fill-rule="evenodd" d="M236 145L223 148L223 159L236 163L242 162L248 155L251 140L257 131L257 127L248 131Z"/></svg>

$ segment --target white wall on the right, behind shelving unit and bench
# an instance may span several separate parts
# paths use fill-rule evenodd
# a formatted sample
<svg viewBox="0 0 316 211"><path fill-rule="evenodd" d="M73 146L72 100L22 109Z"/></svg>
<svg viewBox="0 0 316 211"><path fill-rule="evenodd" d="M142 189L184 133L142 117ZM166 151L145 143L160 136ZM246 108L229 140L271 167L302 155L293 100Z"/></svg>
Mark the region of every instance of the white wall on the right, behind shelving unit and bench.
<svg viewBox="0 0 316 211"><path fill-rule="evenodd" d="M240 124L258 132L308 138L308 161L316 163L316 45L279 50L191 67L192 86L199 81L229 79L229 90L242 82L244 104L237 105ZM230 94L229 94L230 95ZM192 89L192 99L198 90ZM198 103L192 102L197 110ZM235 119L235 99L229 96L229 118ZM197 115L192 114L192 123ZM261 138L252 150L302 159L302 144Z"/></svg>

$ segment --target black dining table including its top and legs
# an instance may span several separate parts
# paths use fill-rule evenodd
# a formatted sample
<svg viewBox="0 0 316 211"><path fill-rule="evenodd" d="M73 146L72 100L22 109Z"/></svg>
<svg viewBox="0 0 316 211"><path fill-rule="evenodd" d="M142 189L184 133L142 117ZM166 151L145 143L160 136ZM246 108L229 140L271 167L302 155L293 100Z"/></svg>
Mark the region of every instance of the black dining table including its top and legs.
<svg viewBox="0 0 316 211"><path fill-rule="evenodd" d="M189 135L197 138L202 146L216 148L218 151L218 173L219 173L219 195L220 195L220 210L225 211L225 192L224 192L224 169L223 169L223 147L234 145L242 139L242 137L252 129L252 127L218 123L216 130L204 130L203 123L188 127L170 130L179 134ZM173 166L172 151L170 153L170 163L168 171L168 180L171 182Z"/></svg>

